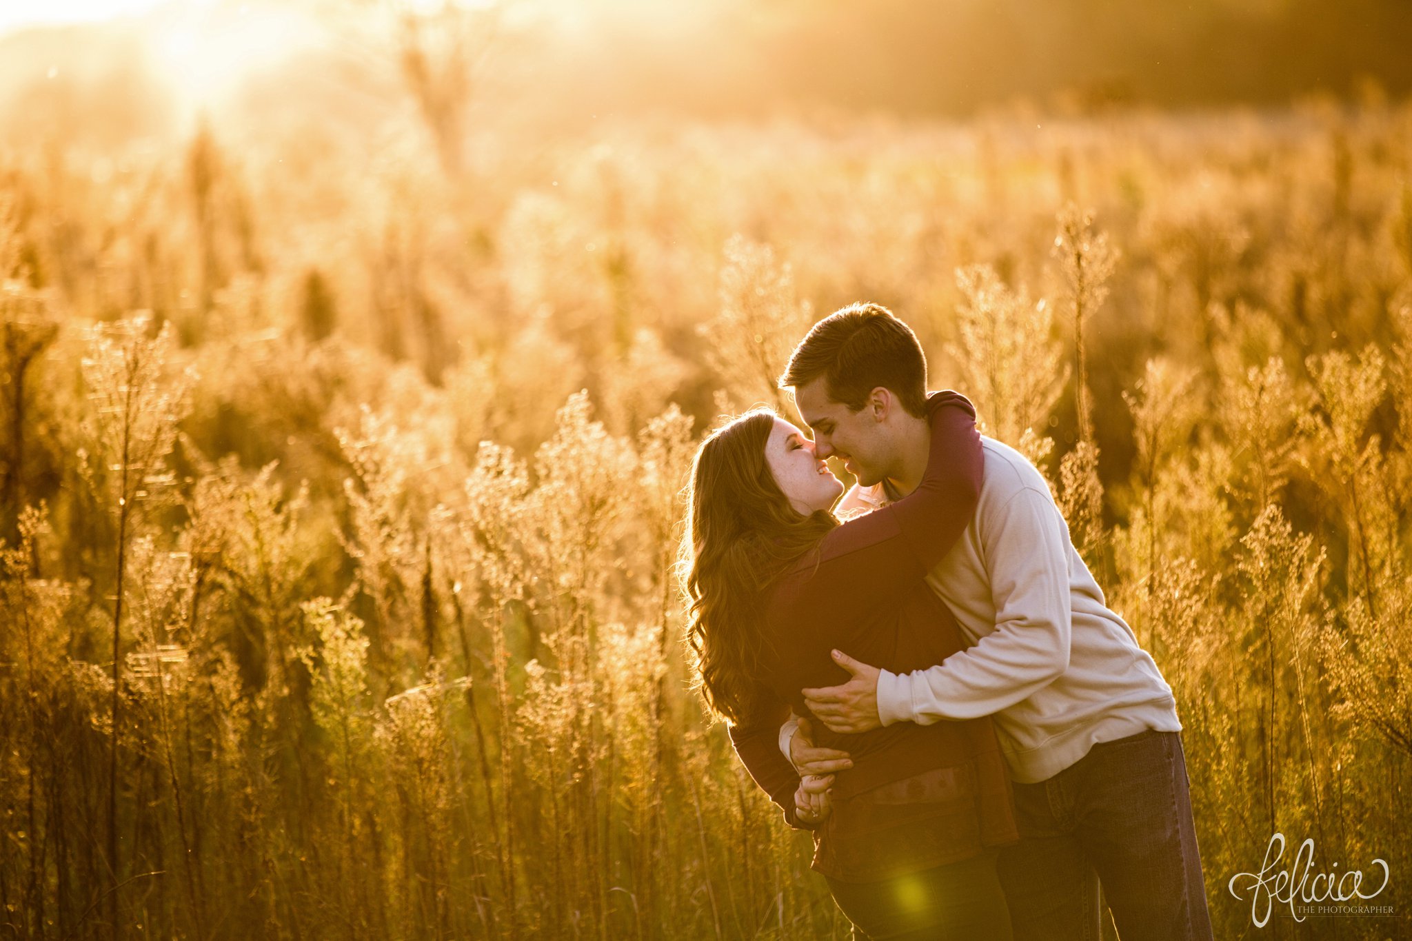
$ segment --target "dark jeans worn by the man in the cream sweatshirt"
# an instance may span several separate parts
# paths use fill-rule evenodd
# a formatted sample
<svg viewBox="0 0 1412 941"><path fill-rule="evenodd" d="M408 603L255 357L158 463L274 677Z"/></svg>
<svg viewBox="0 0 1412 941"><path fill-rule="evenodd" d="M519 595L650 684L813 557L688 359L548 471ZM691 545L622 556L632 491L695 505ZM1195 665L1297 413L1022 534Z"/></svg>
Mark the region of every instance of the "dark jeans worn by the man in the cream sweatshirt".
<svg viewBox="0 0 1412 941"><path fill-rule="evenodd" d="M1099 883L1123 941L1210 941L1180 732L1100 742L1015 784L998 872L1015 941L1099 941Z"/></svg>

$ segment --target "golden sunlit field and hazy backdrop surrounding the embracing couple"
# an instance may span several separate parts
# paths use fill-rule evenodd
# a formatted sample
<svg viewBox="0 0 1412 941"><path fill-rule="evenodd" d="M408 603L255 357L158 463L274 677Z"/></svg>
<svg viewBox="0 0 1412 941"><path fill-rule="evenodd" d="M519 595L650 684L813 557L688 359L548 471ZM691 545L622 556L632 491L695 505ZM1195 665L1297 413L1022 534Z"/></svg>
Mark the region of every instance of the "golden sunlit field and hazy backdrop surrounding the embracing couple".
<svg viewBox="0 0 1412 941"><path fill-rule="evenodd" d="M0 38L11 934L844 937L672 563L867 299L1172 683L1219 937L1275 830L1401 914L1269 934L1398 937L1405 4L144 10Z"/></svg>

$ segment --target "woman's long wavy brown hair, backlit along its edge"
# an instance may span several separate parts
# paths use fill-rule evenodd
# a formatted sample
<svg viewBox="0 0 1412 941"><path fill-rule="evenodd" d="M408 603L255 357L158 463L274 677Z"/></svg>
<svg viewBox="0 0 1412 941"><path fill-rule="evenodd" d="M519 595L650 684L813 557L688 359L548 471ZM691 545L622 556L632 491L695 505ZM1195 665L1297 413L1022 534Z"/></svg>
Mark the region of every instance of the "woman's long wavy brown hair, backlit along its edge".
<svg viewBox="0 0 1412 941"><path fill-rule="evenodd" d="M826 509L802 515L775 482L765 463L775 418L771 409L753 409L710 435L696 451L688 487L678 567L686 645L706 705L736 724L760 705L770 588L839 525Z"/></svg>

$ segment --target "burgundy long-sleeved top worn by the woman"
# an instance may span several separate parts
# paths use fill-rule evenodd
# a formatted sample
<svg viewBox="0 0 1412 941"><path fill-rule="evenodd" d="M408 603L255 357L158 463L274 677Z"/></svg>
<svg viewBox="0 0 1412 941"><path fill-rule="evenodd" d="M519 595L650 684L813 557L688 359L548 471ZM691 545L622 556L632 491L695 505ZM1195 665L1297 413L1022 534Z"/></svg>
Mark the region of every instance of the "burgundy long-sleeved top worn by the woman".
<svg viewBox="0 0 1412 941"><path fill-rule="evenodd" d="M770 703L730 728L736 752L792 827L799 776L779 752L789 708L809 715L803 687L846 683L833 648L907 673L964 646L926 573L960 539L980 498L983 450L976 411L959 392L928 398L932 442L908 497L849 519L771 590L762 618L762 681ZM1018 839L1010 776L990 718L898 722L857 735L815 721L815 743L847 751L833 813L815 831L813 868L870 882L966 859Z"/></svg>

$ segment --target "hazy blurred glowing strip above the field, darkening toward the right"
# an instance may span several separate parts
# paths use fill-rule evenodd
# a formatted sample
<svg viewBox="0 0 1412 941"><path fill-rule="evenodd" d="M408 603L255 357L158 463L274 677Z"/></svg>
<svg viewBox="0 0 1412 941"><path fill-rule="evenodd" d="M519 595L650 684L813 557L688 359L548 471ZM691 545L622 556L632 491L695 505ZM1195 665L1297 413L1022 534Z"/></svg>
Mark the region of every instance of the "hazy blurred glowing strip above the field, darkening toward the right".
<svg viewBox="0 0 1412 941"><path fill-rule="evenodd" d="M119 20L16 28L0 40L0 127L34 134L80 117L86 135L112 144L169 128L198 99L220 99L251 133L295 120L366 127L397 106L387 72L371 68L384 58L380 47L417 32L446 51L457 45L442 34L449 27L472 59L490 65L481 54L497 52L467 87L493 93L515 123L559 131L650 113L967 117L1017 107L1279 106L1412 87L1412 11L1399 0L124 6ZM56 4L51 18L65 7L78 0ZM397 25L407 13L425 25ZM23 27L44 13L6 16ZM178 87L164 96L172 75Z"/></svg>

